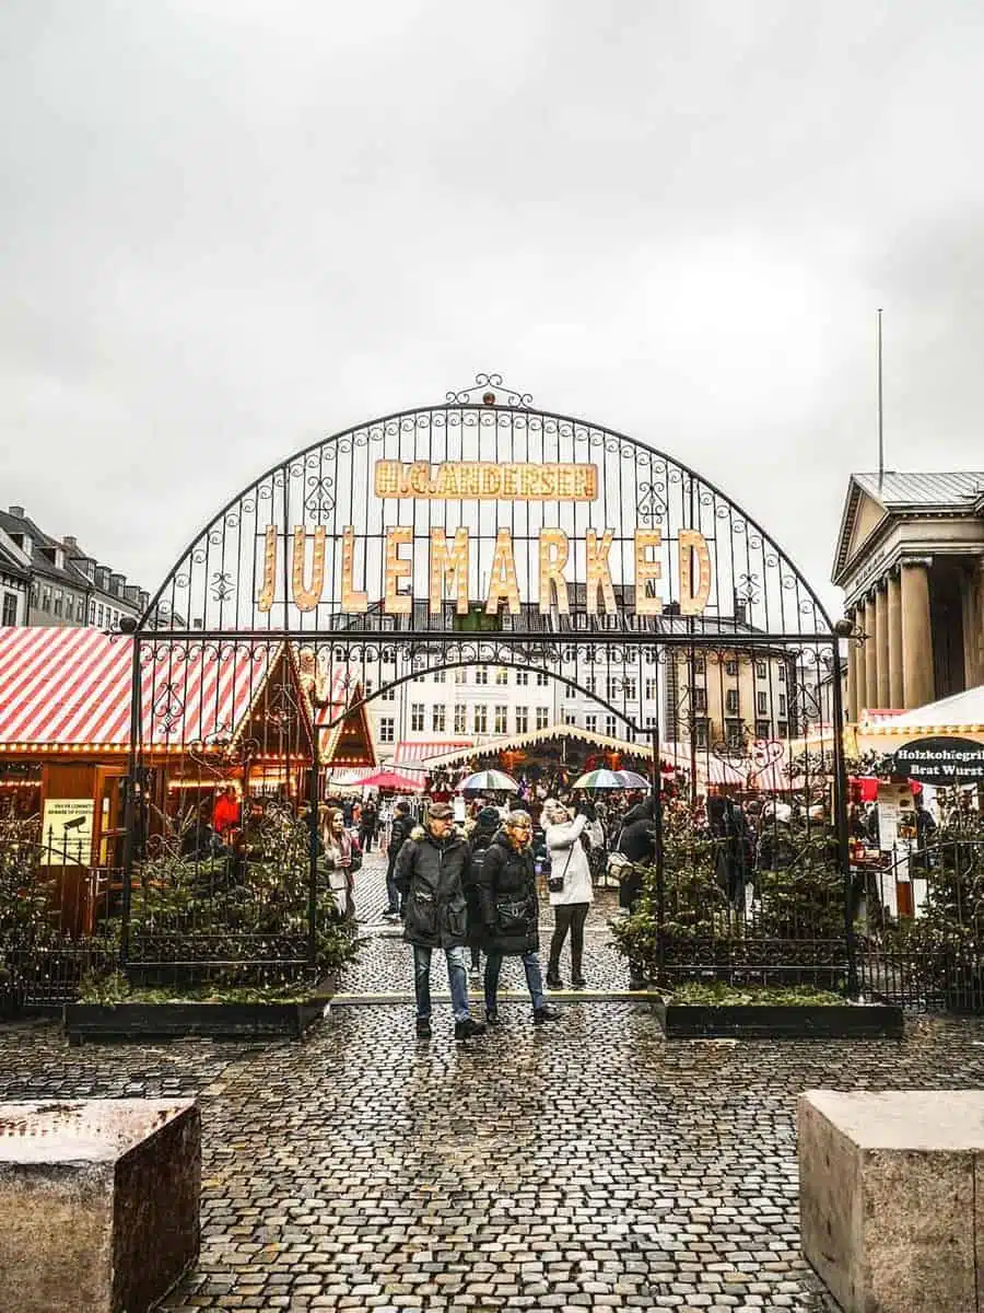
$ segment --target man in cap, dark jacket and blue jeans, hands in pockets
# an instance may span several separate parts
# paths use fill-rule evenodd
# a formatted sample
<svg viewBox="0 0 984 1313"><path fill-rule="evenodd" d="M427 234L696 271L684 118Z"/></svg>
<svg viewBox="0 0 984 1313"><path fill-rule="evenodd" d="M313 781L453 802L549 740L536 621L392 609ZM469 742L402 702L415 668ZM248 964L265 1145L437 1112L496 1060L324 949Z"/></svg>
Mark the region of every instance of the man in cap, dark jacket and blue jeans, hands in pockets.
<svg viewBox="0 0 984 1313"><path fill-rule="evenodd" d="M430 1039L430 955L434 948L442 948L447 961L455 1040L467 1040L485 1029L468 1016L464 881L470 865L471 851L454 832L454 813L446 802L430 807L425 832L421 838L412 834L396 859L395 882L403 894L403 937L413 945L420 1040Z"/></svg>

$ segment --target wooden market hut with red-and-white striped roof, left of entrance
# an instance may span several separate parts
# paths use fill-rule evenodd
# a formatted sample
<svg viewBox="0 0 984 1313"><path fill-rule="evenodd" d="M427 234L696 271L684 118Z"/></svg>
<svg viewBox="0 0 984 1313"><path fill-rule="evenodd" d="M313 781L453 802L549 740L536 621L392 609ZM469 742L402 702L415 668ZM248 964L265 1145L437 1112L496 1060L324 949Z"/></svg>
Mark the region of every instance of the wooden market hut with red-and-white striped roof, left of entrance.
<svg viewBox="0 0 984 1313"><path fill-rule="evenodd" d="M146 638L139 772L147 832L235 781L304 797L311 708L289 645ZM0 838L34 839L71 932L123 863L134 639L0 630Z"/></svg>

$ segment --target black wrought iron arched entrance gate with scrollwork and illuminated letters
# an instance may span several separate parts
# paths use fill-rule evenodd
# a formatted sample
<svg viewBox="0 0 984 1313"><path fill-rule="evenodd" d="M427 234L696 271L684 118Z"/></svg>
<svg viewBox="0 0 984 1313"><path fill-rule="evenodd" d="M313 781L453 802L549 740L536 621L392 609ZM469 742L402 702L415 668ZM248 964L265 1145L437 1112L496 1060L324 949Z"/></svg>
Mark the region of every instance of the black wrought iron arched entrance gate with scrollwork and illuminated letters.
<svg viewBox="0 0 984 1313"><path fill-rule="evenodd" d="M827 807L846 871L837 634L803 575L686 465L479 374L268 470L151 600L133 638L125 961L310 964L325 743L415 679L472 667L572 688L559 720L597 700L653 750L660 826L668 798L794 790L807 826ZM441 696L462 725L462 685ZM150 913L173 864L206 864L206 809L234 776L258 848ZM285 894L270 872L290 863L303 874ZM674 914L663 876L659 903Z"/></svg>

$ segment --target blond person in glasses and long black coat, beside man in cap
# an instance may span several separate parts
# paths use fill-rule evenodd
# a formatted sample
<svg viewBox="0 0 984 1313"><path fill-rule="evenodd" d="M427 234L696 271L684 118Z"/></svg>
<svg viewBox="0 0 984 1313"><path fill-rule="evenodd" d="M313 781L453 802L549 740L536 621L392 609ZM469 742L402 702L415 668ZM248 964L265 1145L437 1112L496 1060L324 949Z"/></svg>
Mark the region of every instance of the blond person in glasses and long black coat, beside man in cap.
<svg viewBox="0 0 984 1313"><path fill-rule="evenodd" d="M539 957L539 899L527 811L510 811L489 844L479 874L478 895L485 934L485 1020L499 1025L499 973L504 957L521 957L533 999L535 1025L560 1015L543 998Z"/></svg>

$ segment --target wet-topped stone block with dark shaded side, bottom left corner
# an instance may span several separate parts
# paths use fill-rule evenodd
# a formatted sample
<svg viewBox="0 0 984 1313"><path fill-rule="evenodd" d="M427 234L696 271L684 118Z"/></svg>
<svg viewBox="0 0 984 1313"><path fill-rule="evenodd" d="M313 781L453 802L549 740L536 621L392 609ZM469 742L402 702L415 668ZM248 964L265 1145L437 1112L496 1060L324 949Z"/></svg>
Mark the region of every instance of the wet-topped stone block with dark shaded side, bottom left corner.
<svg viewBox="0 0 984 1313"><path fill-rule="evenodd" d="M143 1313L198 1257L190 1100L0 1103L0 1313Z"/></svg>

